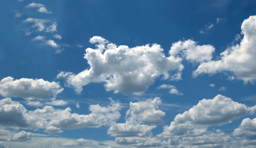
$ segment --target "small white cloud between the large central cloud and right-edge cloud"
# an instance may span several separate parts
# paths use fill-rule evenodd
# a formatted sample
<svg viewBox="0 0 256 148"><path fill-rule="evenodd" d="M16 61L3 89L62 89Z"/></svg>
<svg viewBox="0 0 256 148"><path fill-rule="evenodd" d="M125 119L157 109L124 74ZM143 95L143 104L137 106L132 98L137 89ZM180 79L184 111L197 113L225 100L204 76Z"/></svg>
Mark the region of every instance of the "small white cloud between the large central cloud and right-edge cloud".
<svg viewBox="0 0 256 148"><path fill-rule="evenodd" d="M175 56L182 54L191 62L211 61L214 47L211 45L197 45L193 40L178 41L172 44L169 54Z"/></svg>

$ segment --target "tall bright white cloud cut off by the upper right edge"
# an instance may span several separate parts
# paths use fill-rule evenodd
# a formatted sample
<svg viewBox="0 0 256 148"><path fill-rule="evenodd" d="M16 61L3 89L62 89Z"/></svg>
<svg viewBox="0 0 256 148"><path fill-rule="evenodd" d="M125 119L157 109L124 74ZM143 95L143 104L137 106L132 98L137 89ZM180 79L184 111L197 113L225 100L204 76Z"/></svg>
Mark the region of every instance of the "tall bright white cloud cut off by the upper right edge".
<svg viewBox="0 0 256 148"><path fill-rule="evenodd" d="M250 16L244 20L242 25L242 34L244 35L239 45L234 45L220 54L220 60L206 61L201 63L197 70L193 71L193 76L199 74L216 74L222 71L234 73L236 78L244 83L253 83L256 79L256 16ZM233 74L232 74L233 75Z"/></svg>

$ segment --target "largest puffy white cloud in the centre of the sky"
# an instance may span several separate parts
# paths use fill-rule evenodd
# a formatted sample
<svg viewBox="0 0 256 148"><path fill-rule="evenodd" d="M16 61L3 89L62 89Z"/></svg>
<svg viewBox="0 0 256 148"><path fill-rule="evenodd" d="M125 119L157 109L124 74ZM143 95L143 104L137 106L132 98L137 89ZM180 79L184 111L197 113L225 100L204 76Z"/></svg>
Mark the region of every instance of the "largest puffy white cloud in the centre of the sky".
<svg viewBox="0 0 256 148"><path fill-rule="evenodd" d="M107 91L115 93L142 94L152 85L155 78L164 75L169 78L170 72L181 73L183 65L179 57L165 57L160 45L144 45L129 48L126 45L117 46L108 40L94 36L90 43L96 43L96 49L87 48L84 58L90 69L79 74L60 72L57 78L67 75L68 86L81 93L82 86L92 82L105 82ZM179 77L177 77L179 78Z"/></svg>

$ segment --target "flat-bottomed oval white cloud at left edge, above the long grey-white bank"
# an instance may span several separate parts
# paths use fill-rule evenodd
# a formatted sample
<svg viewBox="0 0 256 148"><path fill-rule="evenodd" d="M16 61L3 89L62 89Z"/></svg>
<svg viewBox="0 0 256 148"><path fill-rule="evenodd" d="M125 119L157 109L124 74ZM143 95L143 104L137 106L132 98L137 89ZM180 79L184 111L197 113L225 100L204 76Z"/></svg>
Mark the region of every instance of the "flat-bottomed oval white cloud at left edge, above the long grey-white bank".
<svg viewBox="0 0 256 148"><path fill-rule="evenodd" d="M43 79L20 78L13 80L11 76L0 81L0 94L5 97L21 97L26 100L55 99L64 89L56 82Z"/></svg>

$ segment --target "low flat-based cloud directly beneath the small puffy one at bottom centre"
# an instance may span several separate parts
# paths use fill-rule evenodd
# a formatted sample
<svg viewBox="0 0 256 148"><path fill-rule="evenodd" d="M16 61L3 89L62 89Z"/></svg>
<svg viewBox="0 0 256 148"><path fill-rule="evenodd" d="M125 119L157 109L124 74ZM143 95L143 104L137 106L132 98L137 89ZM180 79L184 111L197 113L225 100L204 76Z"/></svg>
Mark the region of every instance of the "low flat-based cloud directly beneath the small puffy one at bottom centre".
<svg viewBox="0 0 256 148"><path fill-rule="evenodd" d="M141 125L136 121L126 123L115 123L108 129L108 135L113 137L145 137L152 136L150 132L156 126Z"/></svg>

